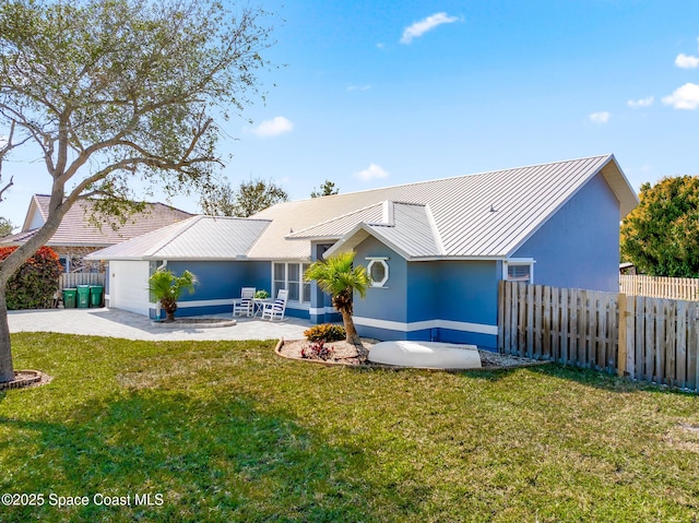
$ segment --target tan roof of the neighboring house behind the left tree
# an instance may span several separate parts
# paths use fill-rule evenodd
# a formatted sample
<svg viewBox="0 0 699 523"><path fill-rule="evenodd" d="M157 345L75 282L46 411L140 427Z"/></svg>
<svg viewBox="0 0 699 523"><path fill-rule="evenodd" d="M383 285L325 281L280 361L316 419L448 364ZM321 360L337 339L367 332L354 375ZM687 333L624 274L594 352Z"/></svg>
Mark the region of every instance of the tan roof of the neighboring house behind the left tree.
<svg viewBox="0 0 699 523"><path fill-rule="evenodd" d="M29 203L29 209L24 219L21 233L2 238L0 243L19 245L27 241L39 227L48 219L48 204L50 197L46 194L35 194ZM189 218L192 214L163 203L146 203L145 210L134 213L123 225L116 230L105 219L102 229L90 223L90 216L95 212L90 200L82 200L75 203L63 216L61 225L48 246L71 246L71 247L106 247L119 243L127 239L141 236L151 230L156 230L176 222Z"/></svg>

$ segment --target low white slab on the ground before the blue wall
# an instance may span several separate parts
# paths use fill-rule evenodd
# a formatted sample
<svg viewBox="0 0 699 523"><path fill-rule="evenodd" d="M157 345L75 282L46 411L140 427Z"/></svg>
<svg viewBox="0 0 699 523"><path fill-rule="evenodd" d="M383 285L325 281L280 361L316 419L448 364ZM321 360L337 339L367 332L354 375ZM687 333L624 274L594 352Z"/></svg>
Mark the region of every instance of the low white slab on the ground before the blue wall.
<svg viewBox="0 0 699 523"><path fill-rule="evenodd" d="M475 345L438 342L381 342L369 350L375 364L423 369L479 369L481 356Z"/></svg>

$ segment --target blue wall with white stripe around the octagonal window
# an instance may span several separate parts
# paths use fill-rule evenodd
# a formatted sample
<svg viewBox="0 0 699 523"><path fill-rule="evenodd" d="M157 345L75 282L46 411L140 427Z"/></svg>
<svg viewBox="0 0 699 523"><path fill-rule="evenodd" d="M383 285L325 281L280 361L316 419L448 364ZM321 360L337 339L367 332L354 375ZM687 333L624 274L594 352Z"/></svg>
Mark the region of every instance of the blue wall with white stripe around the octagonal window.
<svg viewBox="0 0 699 523"><path fill-rule="evenodd" d="M355 297L355 321L363 336L497 346L495 261L407 262L375 238L356 248L356 263L386 257L386 288L370 287Z"/></svg>

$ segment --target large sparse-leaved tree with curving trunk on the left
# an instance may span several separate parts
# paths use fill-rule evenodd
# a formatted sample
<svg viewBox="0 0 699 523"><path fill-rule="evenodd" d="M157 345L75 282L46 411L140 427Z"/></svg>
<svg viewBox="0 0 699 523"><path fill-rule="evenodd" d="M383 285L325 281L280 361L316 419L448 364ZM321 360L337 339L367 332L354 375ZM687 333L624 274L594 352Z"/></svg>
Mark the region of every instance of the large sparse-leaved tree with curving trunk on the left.
<svg viewBox="0 0 699 523"><path fill-rule="evenodd" d="M266 20L216 0L0 2L0 177L28 147L51 183L45 225L0 265L0 382L14 378L8 280L80 199L122 223L142 207L133 179L169 194L212 183L221 123L260 94Z"/></svg>

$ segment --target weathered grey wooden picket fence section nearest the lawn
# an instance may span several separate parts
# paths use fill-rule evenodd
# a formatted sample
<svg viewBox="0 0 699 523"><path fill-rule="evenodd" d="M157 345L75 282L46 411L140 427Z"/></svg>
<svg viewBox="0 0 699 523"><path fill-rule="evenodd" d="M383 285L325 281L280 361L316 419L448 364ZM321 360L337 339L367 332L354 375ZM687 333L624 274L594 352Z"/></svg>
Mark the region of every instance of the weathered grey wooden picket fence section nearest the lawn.
<svg viewBox="0 0 699 523"><path fill-rule="evenodd" d="M699 304L500 282L501 353L698 390Z"/></svg>

